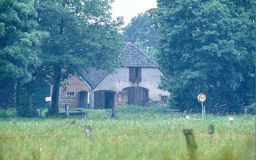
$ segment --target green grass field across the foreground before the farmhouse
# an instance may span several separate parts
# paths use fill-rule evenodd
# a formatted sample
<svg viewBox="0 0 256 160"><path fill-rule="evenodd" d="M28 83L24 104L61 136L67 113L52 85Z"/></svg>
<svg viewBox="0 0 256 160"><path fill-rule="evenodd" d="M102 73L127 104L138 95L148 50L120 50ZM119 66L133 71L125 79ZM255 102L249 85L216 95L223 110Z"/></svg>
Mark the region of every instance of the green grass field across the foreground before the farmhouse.
<svg viewBox="0 0 256 160"><path fill-rule="evenodd" d="M170 115L164 108L88 110L83 118L12 117L0 112L0 160L6 159L189 159L183 129L194 129L197 159L255 159L255 116ZM142 117L143 116L143 117ZM208 134L208 125L215 134ZM88 139L84 126L90 125Z"/></svg>

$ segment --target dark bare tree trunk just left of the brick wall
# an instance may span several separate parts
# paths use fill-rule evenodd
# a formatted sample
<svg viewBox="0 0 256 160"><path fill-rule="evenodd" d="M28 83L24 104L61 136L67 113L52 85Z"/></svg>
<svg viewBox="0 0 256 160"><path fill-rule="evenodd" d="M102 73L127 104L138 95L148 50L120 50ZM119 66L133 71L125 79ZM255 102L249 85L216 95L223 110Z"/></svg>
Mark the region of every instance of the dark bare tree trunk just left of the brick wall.
<svg viewBox="0 0 256 160"><path fill-rule="evenodd" d="M58 65L55 65L54 75L53 75L52 104L49 111L50 116L57 116L59 113L58 99L59 99L60 79L61 79L61 67L59 67Z"/></svg>

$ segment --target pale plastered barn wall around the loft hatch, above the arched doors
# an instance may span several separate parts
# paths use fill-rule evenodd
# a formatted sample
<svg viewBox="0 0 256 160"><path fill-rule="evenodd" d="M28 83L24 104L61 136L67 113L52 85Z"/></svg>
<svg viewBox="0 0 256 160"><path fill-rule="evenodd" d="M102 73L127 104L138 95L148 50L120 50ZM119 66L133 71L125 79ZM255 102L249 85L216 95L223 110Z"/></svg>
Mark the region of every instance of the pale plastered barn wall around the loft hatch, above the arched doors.
<svg viewBox="0 0 256 160"><path fill-rule="evenodd" d="M118 92L123 88L130 86L140 86L149 89L148 100L161 100L161 96L169 97L169 93L158 89L160 83L160 76L163 73L159 68L142 67L141 68L141 82L129 82L129 67L119 67L116 73L106 76L95 88L97 90L113 90Z"/></svg>

